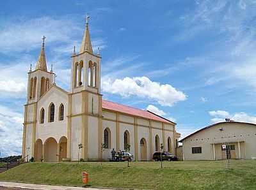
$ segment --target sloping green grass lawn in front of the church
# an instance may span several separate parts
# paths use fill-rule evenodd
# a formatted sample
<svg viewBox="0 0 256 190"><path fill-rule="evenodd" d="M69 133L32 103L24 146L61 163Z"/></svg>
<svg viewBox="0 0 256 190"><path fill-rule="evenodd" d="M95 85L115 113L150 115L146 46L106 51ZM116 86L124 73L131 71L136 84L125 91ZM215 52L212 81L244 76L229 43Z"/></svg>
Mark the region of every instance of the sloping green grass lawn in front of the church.
<svg viewBox="0 0 256 190"><path fill-rule="evenodd" d="M83 186L88 172L92 187L136 189L256 189L256 161L177 161L131 163L28 163L0 173L0 180Z"/></svg>

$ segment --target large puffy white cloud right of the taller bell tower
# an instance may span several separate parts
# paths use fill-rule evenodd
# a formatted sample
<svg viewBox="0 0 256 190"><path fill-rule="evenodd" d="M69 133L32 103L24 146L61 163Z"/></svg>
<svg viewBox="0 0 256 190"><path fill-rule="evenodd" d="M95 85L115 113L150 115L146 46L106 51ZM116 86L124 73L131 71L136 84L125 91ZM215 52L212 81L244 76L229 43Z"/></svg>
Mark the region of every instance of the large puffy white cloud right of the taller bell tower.
<svg viewBox="0 0 256 190"><path fill-rule="evenodd" d="M123 97L138 96L157 101L162 106L173 106L178 101L186 100L186 94L177 91L170 84L159 84L147 77L125 77L102 81L102 91L111 94L119 94Z"/></svg>

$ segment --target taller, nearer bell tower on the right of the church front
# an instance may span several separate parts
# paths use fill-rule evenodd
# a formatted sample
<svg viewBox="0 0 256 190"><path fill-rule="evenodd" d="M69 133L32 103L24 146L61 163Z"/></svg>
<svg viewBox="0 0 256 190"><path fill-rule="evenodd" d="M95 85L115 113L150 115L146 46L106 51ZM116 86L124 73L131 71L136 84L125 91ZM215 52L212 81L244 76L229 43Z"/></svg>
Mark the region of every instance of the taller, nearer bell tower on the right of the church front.
<svg viewBox="0 0 256 190"><path fill-rule="evenodd" d="M71 69L71 93L69 94L70 117L68 122L68 146L83 145L81 152L68 150L68 156L77 159L77 154L84 160L99 159L102 142L102 95L100 94L101 57L93 53L89 32L89 18L79 52L74 52ZM74 116L76 115L76 117ZM71 125L72 124L72 125ZM71 133L69 131L72 131ZM94 135L92 135L92 133ZM69 140L70 139L70 140ZM91 146L88 146L91 145ZM92 146L93 145L93 146Z"/></svg>

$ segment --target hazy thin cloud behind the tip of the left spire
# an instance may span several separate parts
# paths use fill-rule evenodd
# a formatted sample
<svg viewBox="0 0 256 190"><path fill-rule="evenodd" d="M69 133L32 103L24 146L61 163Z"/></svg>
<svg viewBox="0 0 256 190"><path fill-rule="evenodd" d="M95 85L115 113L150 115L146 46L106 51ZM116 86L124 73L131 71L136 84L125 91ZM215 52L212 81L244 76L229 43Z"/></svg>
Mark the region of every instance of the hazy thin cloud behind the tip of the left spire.
<svg viewBox="0 0 256 190"><path fill-rule="evenodd" d="M46 36L46 47L54 41L69 41L70 36L82 28L68 18L51 17L33 18L31 20L10 21L0 30L0 51L21 52L40 47L42 36Z"/></svg>

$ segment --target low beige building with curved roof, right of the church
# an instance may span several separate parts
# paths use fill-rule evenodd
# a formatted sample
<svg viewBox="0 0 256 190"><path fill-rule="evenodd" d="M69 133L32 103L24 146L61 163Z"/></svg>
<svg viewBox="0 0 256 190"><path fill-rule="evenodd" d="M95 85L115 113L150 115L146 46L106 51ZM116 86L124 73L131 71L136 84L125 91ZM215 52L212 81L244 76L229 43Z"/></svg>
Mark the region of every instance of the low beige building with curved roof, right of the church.
<svg viewBox="0 0 256 190"><path fill-rule="evenodd" d="M226 145L231 159L256 158L256 124L219 122L207 126L180 140L183 160L226 159Z"/></svg>

